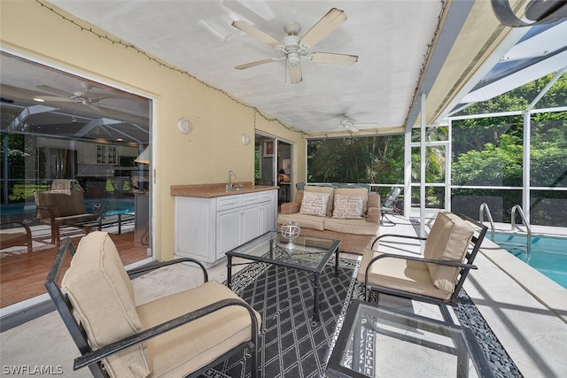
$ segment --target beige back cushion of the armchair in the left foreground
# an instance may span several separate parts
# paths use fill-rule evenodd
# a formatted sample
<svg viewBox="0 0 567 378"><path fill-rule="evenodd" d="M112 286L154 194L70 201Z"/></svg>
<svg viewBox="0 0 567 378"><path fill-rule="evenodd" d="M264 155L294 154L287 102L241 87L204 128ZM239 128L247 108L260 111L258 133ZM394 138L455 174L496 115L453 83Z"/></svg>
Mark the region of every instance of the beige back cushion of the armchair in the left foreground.
<svg viewBox="0 0 567 378"><path fill-rule="evenodd" d="M134 289L110 236L92 232L82 238L61 286L66 289L93 350L140 332ZM151 373L145 343L105 359L113 377Z"/></svg>

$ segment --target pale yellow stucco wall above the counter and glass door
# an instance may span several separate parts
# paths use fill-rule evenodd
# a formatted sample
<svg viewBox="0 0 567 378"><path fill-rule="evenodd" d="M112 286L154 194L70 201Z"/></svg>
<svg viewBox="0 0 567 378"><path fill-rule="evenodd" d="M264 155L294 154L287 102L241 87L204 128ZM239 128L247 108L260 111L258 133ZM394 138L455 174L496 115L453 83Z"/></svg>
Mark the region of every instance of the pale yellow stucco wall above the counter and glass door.
<svg viewBox="0 0 567 378"><path fill-rule="evenodd" d="M92 26L49 3L43 4L46 6L35 0L0 1L3 50L155 99L152 221L156 258L174 257L171 185L224 182L229 170L237 172L238 181L253 181L254 144L245 146L243 134L252 137L258 130L293 143L292 180L305 181L303 135L271 120L269 114L266 118L254 117L256 111L243 101L235 101L190 74L159 65L134 49L82 30L74 23ZM108 35L96 27L92 30ZM182 117L193 123L188 135L177 130L177 120Z"/></svg>

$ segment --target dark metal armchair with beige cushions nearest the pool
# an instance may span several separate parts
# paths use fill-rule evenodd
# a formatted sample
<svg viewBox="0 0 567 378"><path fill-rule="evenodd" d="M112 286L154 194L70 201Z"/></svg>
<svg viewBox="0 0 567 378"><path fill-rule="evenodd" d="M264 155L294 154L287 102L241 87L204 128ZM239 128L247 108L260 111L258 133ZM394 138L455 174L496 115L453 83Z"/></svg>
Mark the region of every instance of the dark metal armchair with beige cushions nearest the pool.
<svg viewBox="0 0 567 378"><path fill-rule="evenodd" d="M478 228L477 235L475 229ZM454 305L487 228L464 215L439 212L429 235L380 235L374 243L386 237L425 240L423 257L364 251L357 279L369 291L407 297L439 305L443 318L452 322L447 305ZM374 247L374 243L372 247ZM470 247L472 247L470 249Z"/></svg>

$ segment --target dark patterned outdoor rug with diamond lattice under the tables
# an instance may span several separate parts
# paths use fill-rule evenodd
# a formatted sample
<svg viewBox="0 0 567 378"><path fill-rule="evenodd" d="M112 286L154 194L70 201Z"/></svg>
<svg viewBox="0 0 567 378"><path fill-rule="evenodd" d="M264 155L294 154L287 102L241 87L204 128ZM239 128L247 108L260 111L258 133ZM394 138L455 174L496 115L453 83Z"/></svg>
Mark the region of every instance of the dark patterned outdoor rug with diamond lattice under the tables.
<svg viewBox="0 0 567 378"><path fill-rule="evenodd" d="M334 275L334 258L321 274L320 323L312 320L312 274L252 263L233 276L232 288L262 317L258 353L260 377L325 376L330 348L334 346L340 329L337 326L342 326L351 300L364 298L363 285L356 281L360 262L347 258L339 258L338 261L338 277ZM376 300L376 296L370 297L370 302ZM392 297L387 300L392 300ZM408 311L411 311L408 299L393 300L396 305L408 306ZM464 289L459 293L454 312L461 324L471 328L477 336L495 376L522 376ZM203 376L248 378L251 376L250 356L229 359Z"/></svg>

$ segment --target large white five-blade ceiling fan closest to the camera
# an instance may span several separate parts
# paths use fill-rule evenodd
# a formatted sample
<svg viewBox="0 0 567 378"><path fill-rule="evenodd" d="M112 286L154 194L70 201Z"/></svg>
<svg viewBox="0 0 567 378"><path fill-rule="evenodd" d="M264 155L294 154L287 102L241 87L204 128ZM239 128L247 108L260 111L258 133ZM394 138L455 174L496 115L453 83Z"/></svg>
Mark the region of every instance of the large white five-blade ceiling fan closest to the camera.
<svg viewBox="0 0 567 378"><path fill-rule="evenodd" d="M289 73L291 84L297 84L303 80L301 73L301 59L310 62L330 63L333 65L352 66L358 61L356 55L337 54L330 52L311 52L310 49L315 43L321 41L329 35L336 27L346 21L346 14L337 8L332 8L306 35L299 36L301 26L297 22L288 22L283 26L287 34L281 41L276 40L270 35L262 32L256 27L252 27L245 21L234 21L233 27L237 27L243 32L258 38L261 42L267 43L280 53L279 58L265 58L244 65L235 66L237 70L244 70L253 66L260 66L276 60L286 60L287 72Z"/></svg>

